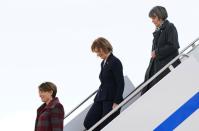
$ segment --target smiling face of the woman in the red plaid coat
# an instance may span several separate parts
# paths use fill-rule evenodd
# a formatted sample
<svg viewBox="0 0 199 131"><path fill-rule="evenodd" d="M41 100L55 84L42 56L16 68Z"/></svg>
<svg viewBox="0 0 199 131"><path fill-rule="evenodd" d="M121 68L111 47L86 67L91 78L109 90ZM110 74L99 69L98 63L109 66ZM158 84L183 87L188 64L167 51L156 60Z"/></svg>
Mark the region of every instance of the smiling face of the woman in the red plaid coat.
<svg viewBox="0 0 199 131"><path fill-rule="evenodd" d="M39 96L41 98L42 102L49 102L52 99L53 91L40 91L39 90Z"/></svg>

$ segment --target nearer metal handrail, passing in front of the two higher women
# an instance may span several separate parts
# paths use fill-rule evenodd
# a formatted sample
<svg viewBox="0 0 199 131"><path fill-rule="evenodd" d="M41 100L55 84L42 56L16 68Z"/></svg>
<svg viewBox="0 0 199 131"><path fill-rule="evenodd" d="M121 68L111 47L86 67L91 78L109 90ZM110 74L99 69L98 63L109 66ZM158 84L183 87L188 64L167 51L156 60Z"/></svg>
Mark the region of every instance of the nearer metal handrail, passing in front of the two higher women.
<svg viewBox="0 0 199 131"><path fill-rule="evenodd" d="M113 113L115 113L118 109L120 109L122 106L127 104L131 99L133 99L138 93L142 91L142 89L148 85L151 81L153 81L159 74L161 74L165 69L167 69L170 65L172 65L176 60L178 60L180 57L182 57L184 54L183 52L186 51L189 47L194 48L196 45L195 43L199 40L199 37L195 39L193 42L191 42L187 47L185 47L178 56L176 56L173 60L171 60L167 65L165 65L161 70L159 70L155 75L153 75L150 79L148 79L146 82L144 82L141 86L137 87L138 89L133 91L126 99L124 99L117 107L115 107L113 110L111 110L107 115L105 115L102 119L100 119L95 125L93 125L88 131L92 131L97 126L99 126L103 121L105 121L109 116L111 116Z"/></svg>

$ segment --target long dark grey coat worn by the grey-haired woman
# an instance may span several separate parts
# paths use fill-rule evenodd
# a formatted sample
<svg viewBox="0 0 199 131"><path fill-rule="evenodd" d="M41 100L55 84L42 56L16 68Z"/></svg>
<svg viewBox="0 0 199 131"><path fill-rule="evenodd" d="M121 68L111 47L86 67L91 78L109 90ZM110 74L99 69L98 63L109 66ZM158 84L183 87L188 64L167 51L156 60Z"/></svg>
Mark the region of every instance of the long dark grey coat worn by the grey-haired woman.
<svg viewBox="0 0 199 131"><path fill-rule="evenodd" d="M179 53L180 48L178 42L178 33L175 26L166 20L162 26L153 33L153 45L152 51L155 51L156 58L151 58L149 66L145 74L145 81L151 78L155 73L157 73L162 67L168 64L173 58L175 58ZM179 60L176 61L173 66L179 64ZM154 79L148 86L143 89L143 93L148 91L153 85L155 85L159 80L161 80L169 70L166 69L162 72L156 79Z"/></svg>

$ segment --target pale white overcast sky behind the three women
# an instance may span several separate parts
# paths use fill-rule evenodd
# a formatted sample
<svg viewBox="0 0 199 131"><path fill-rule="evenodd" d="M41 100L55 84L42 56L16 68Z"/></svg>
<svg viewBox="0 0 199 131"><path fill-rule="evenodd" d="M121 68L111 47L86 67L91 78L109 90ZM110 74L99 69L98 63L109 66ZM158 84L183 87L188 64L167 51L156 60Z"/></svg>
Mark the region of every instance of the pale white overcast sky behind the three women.
<svg viewBox="0 0 199 131"><path fill-rule="evenodd" d="M148 12L156 5L166 7L180 50L199 37L197 0L1 0L0 130L34 129L44 81L57 85L66 113L95 91L101 60L90 46L100 36L139 85L155 29Z"/></svg>

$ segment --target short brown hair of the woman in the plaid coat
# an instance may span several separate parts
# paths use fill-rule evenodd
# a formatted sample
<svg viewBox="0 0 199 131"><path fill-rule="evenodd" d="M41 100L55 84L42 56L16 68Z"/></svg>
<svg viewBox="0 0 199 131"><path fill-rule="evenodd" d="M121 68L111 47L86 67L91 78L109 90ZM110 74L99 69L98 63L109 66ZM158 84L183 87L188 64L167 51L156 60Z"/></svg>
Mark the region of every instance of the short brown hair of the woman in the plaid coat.
<svg viewBox="0 0 199 131"><path fill-rule="evenodd" d="M44 91L44 92L53 91L53 94L52 94L53 98L55 98L55 96L57 94L57 87L52 82L44 82L44 83L42 83L41 85L39 85L39 90L40 91Z"/></svg>

